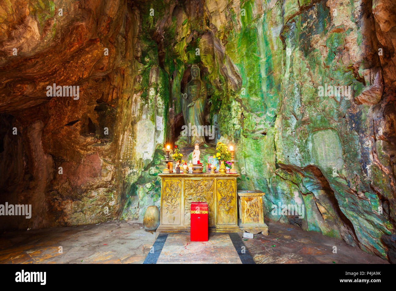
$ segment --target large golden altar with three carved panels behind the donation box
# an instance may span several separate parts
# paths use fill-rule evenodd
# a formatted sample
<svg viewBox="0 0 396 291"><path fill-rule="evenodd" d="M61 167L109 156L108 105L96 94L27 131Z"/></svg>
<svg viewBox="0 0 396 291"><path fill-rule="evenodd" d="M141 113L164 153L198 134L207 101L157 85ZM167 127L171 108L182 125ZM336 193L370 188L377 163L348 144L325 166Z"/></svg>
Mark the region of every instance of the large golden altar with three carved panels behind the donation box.
<svg viewBox="0 0 396 291"><path fill-rule="evenodd" d="M236 178L239 174L158 174L162 178L160 232L189 232L191 202L208 203L211 232L239 232Z"/></svg>

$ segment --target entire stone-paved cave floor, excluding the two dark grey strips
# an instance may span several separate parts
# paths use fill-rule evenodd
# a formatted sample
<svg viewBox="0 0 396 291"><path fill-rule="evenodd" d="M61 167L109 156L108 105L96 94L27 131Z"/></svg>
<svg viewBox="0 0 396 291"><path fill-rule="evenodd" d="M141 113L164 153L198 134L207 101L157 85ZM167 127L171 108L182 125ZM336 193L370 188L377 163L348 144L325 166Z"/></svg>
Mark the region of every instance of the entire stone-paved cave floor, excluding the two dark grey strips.
<svg viewBox="0 0 396 291"><path fill-rule="evenodd" d="M267 222L270 234L242 239L256 263L388 263L343 241ZM240 263L225 234L210 241L188 242L188 235L166 238L157 263ZM0 263L143 263L155 233L141 224L110 221L98 225L0 232ZM333 246L337 253L333 253ZM62 251L62 252L60 252Z"/></svg>

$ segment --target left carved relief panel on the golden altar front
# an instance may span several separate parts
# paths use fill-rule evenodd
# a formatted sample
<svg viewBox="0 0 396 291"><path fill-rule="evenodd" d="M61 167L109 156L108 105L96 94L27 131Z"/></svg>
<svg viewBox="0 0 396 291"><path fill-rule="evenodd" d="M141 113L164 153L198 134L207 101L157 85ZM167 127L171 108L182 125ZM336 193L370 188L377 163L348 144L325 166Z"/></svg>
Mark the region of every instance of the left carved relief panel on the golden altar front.
<svg viewBox="0 0 396 291"><path fill-rule="evenodd" d="M181 179L163 179L162 224L180 224Z"/></svg>

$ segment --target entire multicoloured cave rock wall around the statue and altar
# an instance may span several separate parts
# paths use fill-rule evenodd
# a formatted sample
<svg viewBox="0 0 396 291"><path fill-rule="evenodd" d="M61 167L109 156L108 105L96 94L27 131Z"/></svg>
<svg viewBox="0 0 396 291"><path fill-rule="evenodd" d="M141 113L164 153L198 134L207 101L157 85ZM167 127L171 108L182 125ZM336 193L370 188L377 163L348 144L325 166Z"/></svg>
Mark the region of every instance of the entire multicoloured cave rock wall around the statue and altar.
<svg viewBox="0 0 396 291"><path fill-rule="evenodd" d="M0 203L34 209L1 225L142 220L159 205L162 146L177 142L198 63L214 142L235 145L238 188L266 193L265 216L388 257L395 10L388 0L0 4ZM53 83L80 86L80 98L46 96Z"/></svg>

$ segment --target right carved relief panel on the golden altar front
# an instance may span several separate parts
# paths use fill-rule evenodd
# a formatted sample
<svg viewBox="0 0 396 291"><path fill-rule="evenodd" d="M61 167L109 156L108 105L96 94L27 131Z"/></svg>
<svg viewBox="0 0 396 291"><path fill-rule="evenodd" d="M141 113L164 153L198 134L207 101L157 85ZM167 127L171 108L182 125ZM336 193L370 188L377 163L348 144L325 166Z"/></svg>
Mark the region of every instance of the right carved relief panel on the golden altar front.
<svg viewBox="0 0 396 291"><path fill-rule="evenodd" d="M217 224L236 224L236 183L231 179L216 180Z"/></svg>

